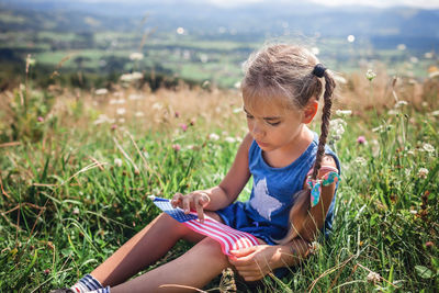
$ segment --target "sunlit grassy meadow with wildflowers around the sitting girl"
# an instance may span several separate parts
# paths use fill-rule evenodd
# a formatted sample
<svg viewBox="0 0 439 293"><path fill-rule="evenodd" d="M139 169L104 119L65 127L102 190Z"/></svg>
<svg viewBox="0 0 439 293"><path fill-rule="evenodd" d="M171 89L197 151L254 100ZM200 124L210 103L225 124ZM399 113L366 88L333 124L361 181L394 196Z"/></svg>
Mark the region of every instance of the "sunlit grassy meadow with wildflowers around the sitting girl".
<svg viewBox="0 0 439 293"><path fill-rule="evenodd" d="M202 290L438 289L439 79L364 74L345 76L333 111L329 144L342 164L333 236L282 279L248 284L225 272ZM246 133L239 92L146 84L29 81L0 93L0 292L72 284L158 215L149 194L225 176ZM159 263L189 247L179 243Z"/></svg>

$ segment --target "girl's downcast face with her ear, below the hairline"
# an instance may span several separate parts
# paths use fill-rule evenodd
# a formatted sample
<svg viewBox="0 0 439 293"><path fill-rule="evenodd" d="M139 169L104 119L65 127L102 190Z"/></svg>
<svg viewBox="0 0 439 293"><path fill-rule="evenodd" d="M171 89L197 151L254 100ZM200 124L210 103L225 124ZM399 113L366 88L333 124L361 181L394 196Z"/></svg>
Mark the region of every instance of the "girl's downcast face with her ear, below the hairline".
<svg viewBox="0 0 439 293"><path fill-rule="evenodd" d="M250 135L264 151L286 150L294 147L311 122L309 111L286 106L285 98L249 100L244 98L244 111ZM317 109L315 109L316 111Z"/></svg>

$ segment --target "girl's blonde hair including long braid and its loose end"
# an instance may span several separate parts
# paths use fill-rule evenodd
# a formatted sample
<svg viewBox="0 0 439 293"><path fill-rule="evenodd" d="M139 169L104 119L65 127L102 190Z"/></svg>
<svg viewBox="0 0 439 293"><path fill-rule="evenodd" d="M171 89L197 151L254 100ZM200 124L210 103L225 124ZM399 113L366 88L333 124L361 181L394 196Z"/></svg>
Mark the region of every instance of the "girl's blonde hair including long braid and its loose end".
<svg viewBox="0 0 439 293"><path fill-rule="evenodd" d="M317 57L304 47L286 44L269 45L252 54L245 63L245 77L241 82L243 97L249 101L256 100L252 98L285 97L288 105L295 109L304 109L312 98L318 101L323 93L320 136L311 176L314 180L317 179L325 155L331 99L336 87L329 70L325 70L323 74L325 82L314 75L313 71L317 64L319 64ZM290 211L289 219L291 225L285 237L277 240L279 244L289 243L301 235L311 209L308 189L297 192L294 196L296 200Z"/></svg>

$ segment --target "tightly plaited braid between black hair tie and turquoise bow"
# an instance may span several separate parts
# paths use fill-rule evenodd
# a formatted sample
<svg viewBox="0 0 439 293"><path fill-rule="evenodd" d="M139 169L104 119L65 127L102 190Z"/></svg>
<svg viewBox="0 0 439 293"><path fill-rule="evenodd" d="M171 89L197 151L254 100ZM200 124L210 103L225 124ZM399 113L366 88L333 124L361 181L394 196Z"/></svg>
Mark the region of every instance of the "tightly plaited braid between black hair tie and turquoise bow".
<svg viewBox="0 0 439 293"><path fill-rule="evenodd" d="M326 138L328 137L329 132L329 120L330 120L330 108L333 106L333 92L336 87L336 82L330 77L328 71L325 71L325 93L324 93L324 106L322 111L322 127L320 127L320 136L318 137L318 148L316 161L314 165L314 170L312 174L312 179L317 179L318 170L322 167L322 159L325 155L325 145Z"/></svg>

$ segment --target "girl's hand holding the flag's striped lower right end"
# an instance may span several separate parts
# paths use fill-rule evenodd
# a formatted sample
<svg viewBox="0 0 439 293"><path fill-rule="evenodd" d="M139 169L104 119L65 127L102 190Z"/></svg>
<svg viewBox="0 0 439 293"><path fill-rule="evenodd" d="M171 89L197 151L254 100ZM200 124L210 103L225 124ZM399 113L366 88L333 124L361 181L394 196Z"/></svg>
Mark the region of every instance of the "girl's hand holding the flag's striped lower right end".
<svg viewBox="0 0 439 293"><path fill-rule="evenodd" d="M228 261L246 281L257 281L272 272L273 257L278 248L270 245L258 245L240 250L230 250Z"/></svg>

